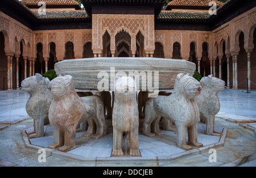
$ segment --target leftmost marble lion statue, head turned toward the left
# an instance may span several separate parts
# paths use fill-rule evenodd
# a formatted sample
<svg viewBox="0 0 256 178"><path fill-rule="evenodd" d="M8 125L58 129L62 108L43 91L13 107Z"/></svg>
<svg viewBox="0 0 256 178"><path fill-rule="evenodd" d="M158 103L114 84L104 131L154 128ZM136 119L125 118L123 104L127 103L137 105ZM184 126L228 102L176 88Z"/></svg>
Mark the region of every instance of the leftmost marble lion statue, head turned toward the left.
<svg viewBox="0 0 256 178"><path fill-rule="evenodd" d="M23 91L30 94L26 104L28 116L34 119L34 131L28 132L28 138L43 137L44 121L48 119L49 107L52 103L52 95L48 91L48 78L40 74L28 77L21 83Z"/></svg>

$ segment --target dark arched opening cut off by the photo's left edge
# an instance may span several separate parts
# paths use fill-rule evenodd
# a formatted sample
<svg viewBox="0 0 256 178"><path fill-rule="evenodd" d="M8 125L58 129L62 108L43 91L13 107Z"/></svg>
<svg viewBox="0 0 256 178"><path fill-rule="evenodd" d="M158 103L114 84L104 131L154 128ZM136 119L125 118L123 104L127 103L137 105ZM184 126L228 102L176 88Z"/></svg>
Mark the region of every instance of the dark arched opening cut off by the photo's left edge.
<svg viewBox="0 0 256 178"><path fill-rule="evenodd" d="M0 90L6 90L6 89L7 89L7 56L5 55L5 36L3 35L3 32L0 32Z"/></svg>

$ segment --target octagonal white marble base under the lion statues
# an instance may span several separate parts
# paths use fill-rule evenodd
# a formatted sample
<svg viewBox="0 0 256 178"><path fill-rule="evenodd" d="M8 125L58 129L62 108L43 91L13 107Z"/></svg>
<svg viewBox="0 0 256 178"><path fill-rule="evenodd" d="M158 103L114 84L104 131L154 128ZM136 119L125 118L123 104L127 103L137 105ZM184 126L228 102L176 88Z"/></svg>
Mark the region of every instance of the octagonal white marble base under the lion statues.
<svg viewBox="0 0 256 178"><path fill-rule="evenodd" d="M180 149L176 145L176 132L161 130L163 135L156 135L155 137L147 137L139 133L139 150L141 151L141 157L111 157L113 146L113 133L112 128L109 128L110 132L105 137L100 139L82 137L85 132L76 133L76 149L68 152L60 152L57 150L48 149L48 145L53 143L53 129L51 125L44 126L45 136L41 138L27 138L27 132L30 132L32 128L24 129L22 131L23 140L27 147L32 149L45 149L48 155L60 156L62 158L69 158L79 160L81 162L117 162L117 161L129 161L132 160L138 162L147 162L151 160L173 160L182 156L191 154L199 154L200 151L208 150L217 146L224 145L226 129L215 125L215 129L222 132L221 137L213 135L205 135L205 124L199 123L198 129L198 141L203 143L203 147L193 150L185 151ZM123 139L123 151L129 152L129 140L124 137Z"/></svg>

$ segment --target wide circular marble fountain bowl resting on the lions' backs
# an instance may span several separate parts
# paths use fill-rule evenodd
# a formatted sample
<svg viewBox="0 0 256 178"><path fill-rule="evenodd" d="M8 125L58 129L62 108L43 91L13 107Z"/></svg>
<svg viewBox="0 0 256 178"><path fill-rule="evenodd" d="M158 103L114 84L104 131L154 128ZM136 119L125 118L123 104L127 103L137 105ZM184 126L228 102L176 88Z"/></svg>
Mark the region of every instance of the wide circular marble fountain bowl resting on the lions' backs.
<svg viewBox="0 0 256 178"><path fill-rule="evenodd" d="M196 65L185 60L167 58L98 57L64 60L55 64L55 70L57 75L71 75L75 88L80 90L98 90L98 82L107 81L109 91L112 91L115 74L122 71L127 75L133 73L136 77L146 76L147 90L157 87L157 84L158 90L170 90L174 88L177 74L193 75ZM142 90L145 80L139 78L139 90Z"/></svg>

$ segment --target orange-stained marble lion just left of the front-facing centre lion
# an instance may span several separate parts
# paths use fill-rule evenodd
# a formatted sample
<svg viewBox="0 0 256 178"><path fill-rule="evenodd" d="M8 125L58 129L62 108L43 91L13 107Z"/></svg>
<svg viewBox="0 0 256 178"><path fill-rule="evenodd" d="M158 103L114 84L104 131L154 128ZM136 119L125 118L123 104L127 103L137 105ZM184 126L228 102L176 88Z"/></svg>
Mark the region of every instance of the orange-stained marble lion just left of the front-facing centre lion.
<svg viewBox="0 0 256 178"><path fill-rule="evenodd" d="M49 82L48 89L53 96L49 108L49 122L53 126L53 144L48 147L67 152L76 147L77 125L100 114L101 117L104 117L104 107L97 108L97 101L100 100L97 96L95 99L92 96L87 96L88 99L87 97L85 97L86 99L80 98L75 91L71 75L59 75ZM88 104L84 103L83 100ZM91 128L89 126L89 129L88 132L91 131L92 133L93 130L96 130L95 126ZM99 138L104 134L106 134L106 130L98 131L98 133L96 131L95 137Z"/></svg>

